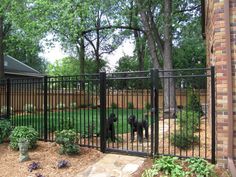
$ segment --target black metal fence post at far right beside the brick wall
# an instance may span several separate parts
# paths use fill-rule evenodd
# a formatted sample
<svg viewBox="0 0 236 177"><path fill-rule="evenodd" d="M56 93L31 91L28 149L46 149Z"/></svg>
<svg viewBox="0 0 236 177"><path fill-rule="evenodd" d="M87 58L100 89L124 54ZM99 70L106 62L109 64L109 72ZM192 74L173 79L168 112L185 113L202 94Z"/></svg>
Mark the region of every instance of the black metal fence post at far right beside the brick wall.
<svg viewBox="0 0 236 177"><path fill-rule="evenodd" d="M211 130L212 130L212 138L211 138L211 162L213 164L216 163L215 157L215 134L216 134L216 123L215 123L215 67L211 66Z"/></svg>

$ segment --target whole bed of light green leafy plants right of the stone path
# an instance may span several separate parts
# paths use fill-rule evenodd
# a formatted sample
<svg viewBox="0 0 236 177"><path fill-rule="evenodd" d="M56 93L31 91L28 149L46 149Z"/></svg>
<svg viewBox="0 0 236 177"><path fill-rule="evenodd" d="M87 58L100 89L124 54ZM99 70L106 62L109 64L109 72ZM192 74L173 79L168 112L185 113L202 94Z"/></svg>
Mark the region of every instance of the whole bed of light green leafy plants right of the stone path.
<svg viewBox="0 0 236 177"><path fill-rule="evenodd" d="M178 157L162 156L153 160L150 169L142 177L217 177L215 166L201 158L180 160Z"/></svg>

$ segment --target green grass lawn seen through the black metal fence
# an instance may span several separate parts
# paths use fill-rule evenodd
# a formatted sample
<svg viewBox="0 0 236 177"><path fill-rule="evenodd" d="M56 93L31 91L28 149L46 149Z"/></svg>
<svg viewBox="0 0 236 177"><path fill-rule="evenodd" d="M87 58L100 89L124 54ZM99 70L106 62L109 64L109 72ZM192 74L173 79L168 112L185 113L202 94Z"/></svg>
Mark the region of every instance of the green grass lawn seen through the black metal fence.
<svg viewBox="0 0 236 177"><path fill-rule="evenodd" d="M112 112L114 112L118 117L118 121L115 122L115 130L118 133L129 132L130 126L127 122L129 115L134 114L139 119L142 119L145 114L145 110L107 109L107 117ZM67 127L75 129L76 132L85 136L91 132L93 134L99 134L100 132L100 109L78 109L48 112L47 116L49 132L63 130ZM43 136L44 116L42 112L12 115L11 120L13 126L32 126L40 133L41 136Z"/></svg>

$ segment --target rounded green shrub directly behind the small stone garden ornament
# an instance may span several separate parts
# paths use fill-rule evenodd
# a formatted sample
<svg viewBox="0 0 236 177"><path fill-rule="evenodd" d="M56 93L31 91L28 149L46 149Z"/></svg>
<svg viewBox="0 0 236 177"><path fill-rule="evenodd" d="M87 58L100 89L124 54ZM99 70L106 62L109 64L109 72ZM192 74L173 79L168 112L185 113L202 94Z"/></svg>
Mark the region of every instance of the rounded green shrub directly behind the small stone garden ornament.
<svg viewBox="0 0 236 177"><path fill-rule="evenodd" d="M15 127L10 135L10 147L17 150L19 140L25 138L29 141L29 149L32 149L36 146L38 136L38 132L32 127Z"/></svg>

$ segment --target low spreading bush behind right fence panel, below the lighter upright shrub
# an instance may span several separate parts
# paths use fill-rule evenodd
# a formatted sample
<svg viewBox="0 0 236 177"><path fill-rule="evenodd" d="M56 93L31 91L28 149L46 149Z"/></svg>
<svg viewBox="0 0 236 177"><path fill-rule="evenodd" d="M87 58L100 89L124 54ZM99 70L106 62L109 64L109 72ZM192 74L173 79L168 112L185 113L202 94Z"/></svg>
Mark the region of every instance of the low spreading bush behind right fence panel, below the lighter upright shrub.
<svg viewBox="0 0 236 177"><path fill-rule="evenodd" d="M171 135L171 144L180 149L189 149L196 143L199 143L199 137L191 130L182 129Z"/></svg>

